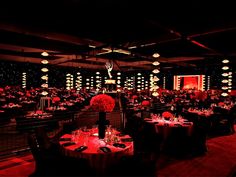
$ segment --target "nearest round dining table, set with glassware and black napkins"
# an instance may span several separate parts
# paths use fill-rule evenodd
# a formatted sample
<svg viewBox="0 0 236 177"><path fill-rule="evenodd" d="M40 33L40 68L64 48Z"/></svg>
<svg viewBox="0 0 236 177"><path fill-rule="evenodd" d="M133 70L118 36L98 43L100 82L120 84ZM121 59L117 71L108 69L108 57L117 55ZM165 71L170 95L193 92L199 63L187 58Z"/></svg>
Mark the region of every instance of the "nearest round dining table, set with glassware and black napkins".
<svg viewBox="0 0 236 177"><path fill-rule="evenodd" d="M76 134L77 137L74 134L64 134L60 137L62 153L65 156L86 159L97 174L103 174L121 157L133 155L133 140L129 135L121 135L116 131L115 138L108 142L106 138L99 139L97 128L77 130Z"/></svg>

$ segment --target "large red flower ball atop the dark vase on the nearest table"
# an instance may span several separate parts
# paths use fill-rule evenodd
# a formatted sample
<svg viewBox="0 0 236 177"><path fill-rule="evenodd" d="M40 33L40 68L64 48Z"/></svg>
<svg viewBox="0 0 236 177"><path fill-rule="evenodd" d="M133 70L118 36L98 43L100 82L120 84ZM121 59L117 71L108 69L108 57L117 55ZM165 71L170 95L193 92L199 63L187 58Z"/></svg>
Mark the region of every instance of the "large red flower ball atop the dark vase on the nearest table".
<svg viewBox="0 0 236 177"><path fill-rule="evenodd" d="M97 112L111 112L115 107L115 100L109 95L99 94L91 99L90 106Z"/></svg>

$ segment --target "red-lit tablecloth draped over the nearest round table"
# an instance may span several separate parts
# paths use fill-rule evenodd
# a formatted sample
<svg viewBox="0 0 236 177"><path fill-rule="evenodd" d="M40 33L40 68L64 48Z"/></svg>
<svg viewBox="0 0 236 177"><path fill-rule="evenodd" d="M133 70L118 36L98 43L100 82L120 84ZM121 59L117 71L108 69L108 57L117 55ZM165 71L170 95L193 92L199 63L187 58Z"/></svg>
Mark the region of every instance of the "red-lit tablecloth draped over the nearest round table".
<svg viewBox="0 0 236 177"><path fill-rule="evenodd" d="M87 141L85 140L87 136ZM65 134L61 138L71 138L71 134ZM128 135L123 138L130 138ZM84 142L87 142L84 144ZM106 144L103 140L100 140L98 136L93 136L91 132L82 132L78 138L78 143L70 146L63 146L68 141L60 141L62 152L66 156L85 158L89 161L89 164L98 173L102 174L104 170L110 165L115 164L118 160L125 155L133 154L133 141L132 142L119 142L125 144L125 148L115 147L111 144ZM76 148L86 145L88 148L82 152L75 151ZM99 147L106 146L111 152L104 153Z"/></svg>

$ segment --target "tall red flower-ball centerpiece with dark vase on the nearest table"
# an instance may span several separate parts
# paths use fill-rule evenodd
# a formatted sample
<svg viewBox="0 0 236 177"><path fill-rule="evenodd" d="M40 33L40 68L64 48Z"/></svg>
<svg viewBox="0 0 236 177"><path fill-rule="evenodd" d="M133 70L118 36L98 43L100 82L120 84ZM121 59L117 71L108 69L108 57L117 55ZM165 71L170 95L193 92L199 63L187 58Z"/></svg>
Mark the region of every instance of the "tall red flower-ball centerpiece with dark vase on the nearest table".
<svg viewBox="0 0 236 177"><path fill-rule="evenodd" d="M93 111L99 112L98 136L100 139L103 139L105 137L106 125L108 124L106 113L113 111L115 100L109 95L99 94L91 99L90 106Z"/></svg>

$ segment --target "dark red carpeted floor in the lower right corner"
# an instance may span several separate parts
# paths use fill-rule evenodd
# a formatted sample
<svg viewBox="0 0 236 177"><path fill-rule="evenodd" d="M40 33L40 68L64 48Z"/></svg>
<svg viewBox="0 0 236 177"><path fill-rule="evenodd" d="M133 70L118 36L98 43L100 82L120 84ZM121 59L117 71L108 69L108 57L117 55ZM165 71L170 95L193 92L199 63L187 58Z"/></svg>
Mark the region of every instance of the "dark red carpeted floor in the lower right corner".
<svg viewBox="0 0 236 177"><path fill-rule="evenodd" d="M157 163L158 177L232 177L236 175L236 134L207 141L208 152L191 159L162 156Z"/></svg>

